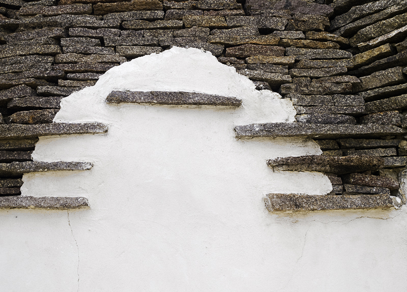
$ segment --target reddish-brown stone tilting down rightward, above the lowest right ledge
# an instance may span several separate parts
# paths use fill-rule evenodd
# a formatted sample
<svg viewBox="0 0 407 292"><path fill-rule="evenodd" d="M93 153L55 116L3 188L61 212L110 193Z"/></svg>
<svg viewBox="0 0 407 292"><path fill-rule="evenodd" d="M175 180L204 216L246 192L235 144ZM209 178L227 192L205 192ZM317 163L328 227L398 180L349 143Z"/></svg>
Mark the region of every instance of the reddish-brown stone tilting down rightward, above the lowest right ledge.
<svg viewBox="0 0 407 292"><path fill-rule="evenodd" d="M393 178L372 176L371 174L351 173L342 177L344 183L351 185L362 185L368 187L380 187L397 190L399 183Z"/></svg>

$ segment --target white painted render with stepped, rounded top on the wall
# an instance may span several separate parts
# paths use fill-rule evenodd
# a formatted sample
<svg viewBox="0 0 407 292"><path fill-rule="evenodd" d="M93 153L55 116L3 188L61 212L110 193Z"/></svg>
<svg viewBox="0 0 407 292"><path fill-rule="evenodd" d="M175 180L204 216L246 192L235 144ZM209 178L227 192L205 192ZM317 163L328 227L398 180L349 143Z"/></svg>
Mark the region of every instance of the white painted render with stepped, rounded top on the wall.
<svg viewBox="0 0 407 292"><path fill-rule="evenodd" d="M234 107L105 103L112 90L187 91ZM321 154L310 139L237 140L234 126L293 122L292 104L209 52L172 48L112 68L65 98L55 122L107 134L43 137L38 161L90 171L24 175L22 195L85 196L91 208L0 210L1 291L405 291L407 212L269 214L267 193L324 195L313 172L266 160Z"/></svg>

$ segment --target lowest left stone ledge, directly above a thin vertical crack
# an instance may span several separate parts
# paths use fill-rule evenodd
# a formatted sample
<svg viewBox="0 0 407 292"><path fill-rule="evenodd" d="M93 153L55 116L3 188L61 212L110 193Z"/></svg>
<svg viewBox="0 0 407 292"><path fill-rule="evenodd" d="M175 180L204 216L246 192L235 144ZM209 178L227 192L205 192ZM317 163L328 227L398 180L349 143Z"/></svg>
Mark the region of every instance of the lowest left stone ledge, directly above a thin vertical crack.
<svg viewBox="0 0 407 292"><path fill-rule="evenodd" d="M86 207L89 207L89 201L84 197L0 197L0 209L69 210Z"/></svg>

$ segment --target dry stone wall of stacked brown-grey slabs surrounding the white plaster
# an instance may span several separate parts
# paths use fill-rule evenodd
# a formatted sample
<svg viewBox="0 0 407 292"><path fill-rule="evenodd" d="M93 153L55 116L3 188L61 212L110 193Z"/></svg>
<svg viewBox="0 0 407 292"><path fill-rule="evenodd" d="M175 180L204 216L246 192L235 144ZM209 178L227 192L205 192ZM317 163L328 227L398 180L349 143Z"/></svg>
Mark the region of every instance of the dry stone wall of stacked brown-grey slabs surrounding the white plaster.
<svg viewBox="0 0 407 292"><path fill-rule="evenodd" d="M333 195L405 202L398 188L407 164L406 23L405 0L0 2L0 164L32 161L36 136L61 100L110 68L194 47L293 102L295 129L265 131L311 137L324 152L312 164L300 157L270 166L324 171ZM15 133L27 131L21 125L34 134ZM344 156L364 158L347 159L353 164L341 171ZM20 194L21 175L2 173L0 195Z"/></svg>

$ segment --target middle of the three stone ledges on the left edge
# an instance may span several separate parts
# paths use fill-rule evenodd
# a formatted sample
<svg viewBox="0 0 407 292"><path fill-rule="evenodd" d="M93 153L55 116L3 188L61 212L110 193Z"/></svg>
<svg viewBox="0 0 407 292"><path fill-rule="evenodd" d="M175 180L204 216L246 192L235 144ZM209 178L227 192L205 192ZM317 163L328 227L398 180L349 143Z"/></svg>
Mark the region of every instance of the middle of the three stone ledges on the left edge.
<svg viewBox="0 0 407 292"><path fill-rule="evenodd" d="M0 163L0 176L17 176L28 172L44 172L59 170L89 170L93 167L89 162L43 162L26 161Z"/></svg>

